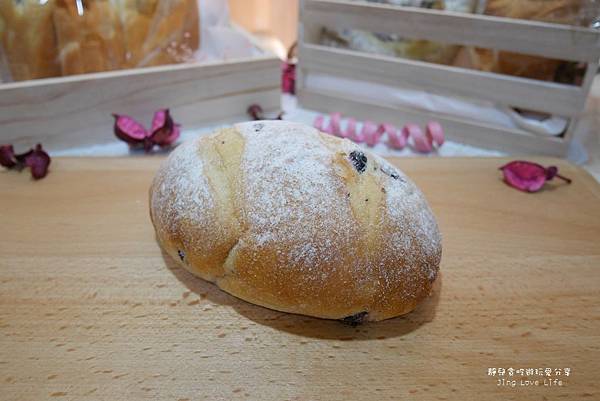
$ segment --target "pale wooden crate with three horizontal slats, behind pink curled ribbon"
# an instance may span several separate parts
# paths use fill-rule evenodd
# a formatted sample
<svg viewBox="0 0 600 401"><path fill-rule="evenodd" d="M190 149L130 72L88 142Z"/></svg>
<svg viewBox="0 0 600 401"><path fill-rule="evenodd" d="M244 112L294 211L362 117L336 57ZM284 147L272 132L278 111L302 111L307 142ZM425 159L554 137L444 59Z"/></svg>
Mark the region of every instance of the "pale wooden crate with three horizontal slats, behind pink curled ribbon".
<svg viewBox="0 0 600 401"><path fill-rule="evenodd" d="M564 156L598 69L600 32L592 29L357 1L303 0L300 7L297 91L303 107L399 125L408 121L424 124L435 119L442 123L450 139L475 146ZM399 34L442 43L452 38L451 44L585 62L587 70L581 86L575 86L367 54L320 45L323 27ZM567 117L570 122L561 137L534 134L309 87L306 77L311 73L391 87L417 86L432 93L552 113Z"/></svg>

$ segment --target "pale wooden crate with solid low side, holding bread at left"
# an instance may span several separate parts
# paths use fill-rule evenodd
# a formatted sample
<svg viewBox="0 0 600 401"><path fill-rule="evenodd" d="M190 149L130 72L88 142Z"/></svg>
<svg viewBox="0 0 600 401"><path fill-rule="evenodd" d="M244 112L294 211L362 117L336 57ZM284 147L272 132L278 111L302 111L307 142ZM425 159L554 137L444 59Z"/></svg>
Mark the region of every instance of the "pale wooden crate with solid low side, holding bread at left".
<svg viewBox="0 0 600 401"><path fill-rule="evenodd" d="M253 41L255 46L259 46ZM247 107L280 107L280 60L167 65L0 84L0 144L60 150L114 140L111 113L149 124L169 107L184 129L246 120Z"/></svg>

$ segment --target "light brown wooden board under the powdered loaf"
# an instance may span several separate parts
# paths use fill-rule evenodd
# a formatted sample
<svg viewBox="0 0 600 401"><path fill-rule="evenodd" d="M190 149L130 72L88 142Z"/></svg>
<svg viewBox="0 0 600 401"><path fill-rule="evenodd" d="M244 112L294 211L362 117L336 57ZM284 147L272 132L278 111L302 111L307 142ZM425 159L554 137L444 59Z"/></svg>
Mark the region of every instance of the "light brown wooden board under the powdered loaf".
<svg viewBox="0 0 600 401"><path fill-rule="evenodd" d="M438 217L442 274L413 313L353 328L177 268L148 217L161 160L0 172L0 399L600 399L600 186L583 170L559 162L573 184L532 195L502 159L392 160ZM509 368L552 372L524 386Z"/></svg>

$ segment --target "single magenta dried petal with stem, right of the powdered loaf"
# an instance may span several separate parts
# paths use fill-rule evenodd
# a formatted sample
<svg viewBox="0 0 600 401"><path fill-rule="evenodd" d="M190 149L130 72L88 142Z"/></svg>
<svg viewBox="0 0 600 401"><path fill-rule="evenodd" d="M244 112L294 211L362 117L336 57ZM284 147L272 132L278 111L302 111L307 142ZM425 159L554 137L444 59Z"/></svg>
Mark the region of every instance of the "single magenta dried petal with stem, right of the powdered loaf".
<svg viewBox="0 0 600 401"><path fill-rule="evenodd" d="M504 174L504 181L511 187L525 192L539 191L546 181L554 177L571 183L569 178L558 174L556 166L545 168L544 166L523 160L512 161L500 167Z"/></svg>

